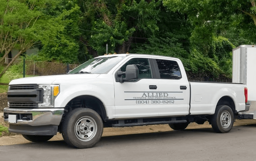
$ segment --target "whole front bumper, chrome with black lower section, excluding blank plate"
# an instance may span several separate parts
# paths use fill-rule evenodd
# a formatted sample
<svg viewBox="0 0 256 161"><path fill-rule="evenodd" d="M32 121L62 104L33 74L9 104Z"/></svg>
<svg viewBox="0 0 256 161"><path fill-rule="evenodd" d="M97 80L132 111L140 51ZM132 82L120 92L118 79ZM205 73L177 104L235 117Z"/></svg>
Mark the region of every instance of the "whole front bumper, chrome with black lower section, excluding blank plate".
<svg viewBox="0 0 256 161"><path fill-rule="evenodd" d="M4 108L4 121L8 115L16 115L15 123L9 123L9 131L26 135L56 135L64 108L12 109Z"/></svg>

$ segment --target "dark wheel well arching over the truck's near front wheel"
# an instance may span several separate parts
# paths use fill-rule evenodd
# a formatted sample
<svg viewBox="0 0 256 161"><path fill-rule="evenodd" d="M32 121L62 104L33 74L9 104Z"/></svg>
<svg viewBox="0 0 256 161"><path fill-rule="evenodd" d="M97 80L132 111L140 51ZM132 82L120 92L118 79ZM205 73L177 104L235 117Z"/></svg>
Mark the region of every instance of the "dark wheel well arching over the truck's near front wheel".
<svg viewBox="0 0 256 161"><path fill-rule="evenodd" d="M107 118L103 103L94 96L78 96L68 102L64 108L64 116L75 108L90 108L96 111L104 121Z"/></svg>

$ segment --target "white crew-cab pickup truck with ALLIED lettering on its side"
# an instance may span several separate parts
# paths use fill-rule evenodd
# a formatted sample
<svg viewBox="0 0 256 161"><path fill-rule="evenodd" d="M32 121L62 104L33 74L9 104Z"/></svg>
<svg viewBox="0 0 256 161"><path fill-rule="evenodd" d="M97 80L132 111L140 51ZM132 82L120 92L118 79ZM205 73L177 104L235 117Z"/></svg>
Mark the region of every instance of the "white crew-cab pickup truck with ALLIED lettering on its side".
<svg viewBox="0 0 256 161"><path fill-rule="evenodd" d="M216 132L229 132L249 106L246 85L189 82L177 58L113 54L66 75L12 80L3 117L10 132L29 141L61 132L68 145L90 148L103 127L169 124L180 130L209 121Z"/></svg>

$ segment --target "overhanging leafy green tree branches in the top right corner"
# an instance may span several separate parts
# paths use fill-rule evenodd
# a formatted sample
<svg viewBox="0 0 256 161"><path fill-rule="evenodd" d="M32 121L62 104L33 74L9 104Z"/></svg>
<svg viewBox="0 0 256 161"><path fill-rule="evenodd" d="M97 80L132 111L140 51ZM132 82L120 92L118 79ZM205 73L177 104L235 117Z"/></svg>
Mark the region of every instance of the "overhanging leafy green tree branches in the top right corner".
<svg viewBox="0 0 256 161"><path fill-rule="evenodd" d="M163 4L171 11L188 16L194 26L191 41L203 42L206 50L215 35L256 38L255 0L163 0ZM233 32L227 33L230 29Z"/></svg>

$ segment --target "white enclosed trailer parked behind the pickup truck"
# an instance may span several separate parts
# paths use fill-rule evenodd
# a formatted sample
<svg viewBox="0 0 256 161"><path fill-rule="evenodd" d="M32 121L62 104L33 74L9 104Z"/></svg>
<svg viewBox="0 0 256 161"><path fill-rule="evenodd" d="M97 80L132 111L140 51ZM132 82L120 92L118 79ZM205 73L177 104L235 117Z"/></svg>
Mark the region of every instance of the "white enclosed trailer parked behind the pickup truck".
<svg viewBox="0 0 256 161"><path fill-rule="evenodd" d="M246 84L249 111L240 112L239 117L256 119L256 45L240 45L232 50L232 82Z"/></svg>

